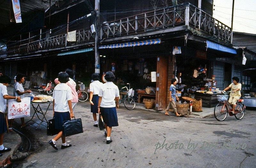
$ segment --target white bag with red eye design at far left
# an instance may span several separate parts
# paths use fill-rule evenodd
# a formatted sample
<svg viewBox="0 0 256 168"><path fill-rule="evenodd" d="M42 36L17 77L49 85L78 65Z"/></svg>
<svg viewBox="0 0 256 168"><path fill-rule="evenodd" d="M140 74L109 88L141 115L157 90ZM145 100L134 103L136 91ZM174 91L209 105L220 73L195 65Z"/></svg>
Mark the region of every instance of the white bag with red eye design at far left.
<svg viewBox="0 0 256 168"><path fill-rule="evenodd" d="M22 98L20 103L8 100L8 119L22 117L30 117L30 97Z"/></svg>

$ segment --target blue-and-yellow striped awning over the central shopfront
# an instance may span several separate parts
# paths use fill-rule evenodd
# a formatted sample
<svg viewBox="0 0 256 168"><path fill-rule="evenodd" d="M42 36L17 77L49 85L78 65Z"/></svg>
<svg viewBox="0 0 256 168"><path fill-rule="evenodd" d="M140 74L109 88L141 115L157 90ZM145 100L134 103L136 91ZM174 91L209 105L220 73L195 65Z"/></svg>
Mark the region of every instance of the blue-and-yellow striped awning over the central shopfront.
<svg viewBox="0 0 256 168"><path fill-rule="evenodd" d="M151 44L160 44L161 39L152 39L152 40L144 40L140 42L126 42L120 44L109 44L109 45L101 45L99 49L113 49L113 48L122 48L122 47L133 47L140 45L151 45Z"/></svg>

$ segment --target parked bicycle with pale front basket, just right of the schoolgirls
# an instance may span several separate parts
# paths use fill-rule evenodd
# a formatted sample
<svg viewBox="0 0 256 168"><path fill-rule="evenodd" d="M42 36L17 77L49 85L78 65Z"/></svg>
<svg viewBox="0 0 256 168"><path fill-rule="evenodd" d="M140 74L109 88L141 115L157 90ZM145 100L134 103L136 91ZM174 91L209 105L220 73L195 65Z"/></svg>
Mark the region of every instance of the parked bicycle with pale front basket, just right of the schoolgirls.
<svg viewBox="0 0 256 168"><path fill-rule="evenodd" d="M122 99L119 99L118 104L120 105L124 101L124 107L128 110L133 110L136 106L135 101L133 99L134 95L134 90L132 88L130 89L130 83L129 84L129 89L125 86L121 88L120 94L122 94Z"/></svg>

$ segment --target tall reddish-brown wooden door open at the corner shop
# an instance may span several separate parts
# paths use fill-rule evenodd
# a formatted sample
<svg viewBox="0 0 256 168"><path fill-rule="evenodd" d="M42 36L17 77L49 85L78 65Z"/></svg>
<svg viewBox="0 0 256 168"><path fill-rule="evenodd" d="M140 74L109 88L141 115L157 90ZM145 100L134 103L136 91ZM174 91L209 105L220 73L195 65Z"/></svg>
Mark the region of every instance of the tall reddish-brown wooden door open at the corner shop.
<svg viewBox="0 0 256 168"><path fill-rule="evenodd" d="M156 66L156 110L166 108L167 82L168 82L168 57L157 57Z"/></svg>

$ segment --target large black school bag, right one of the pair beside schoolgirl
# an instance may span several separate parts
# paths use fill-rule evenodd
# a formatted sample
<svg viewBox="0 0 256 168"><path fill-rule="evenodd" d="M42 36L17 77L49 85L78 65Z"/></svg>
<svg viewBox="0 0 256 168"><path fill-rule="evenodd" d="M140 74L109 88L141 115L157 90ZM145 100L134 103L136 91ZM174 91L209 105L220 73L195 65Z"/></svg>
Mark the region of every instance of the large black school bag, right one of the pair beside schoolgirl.
<svg viewBox="0 0 256 168"><path fill-rule="evenodd" d="M83 133L83 125L81 118L75 118L71 120L63 121L62 124L62 135L70 136L75 134Z"/></svg>

